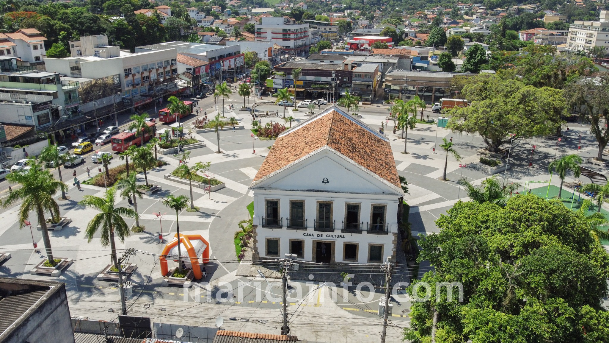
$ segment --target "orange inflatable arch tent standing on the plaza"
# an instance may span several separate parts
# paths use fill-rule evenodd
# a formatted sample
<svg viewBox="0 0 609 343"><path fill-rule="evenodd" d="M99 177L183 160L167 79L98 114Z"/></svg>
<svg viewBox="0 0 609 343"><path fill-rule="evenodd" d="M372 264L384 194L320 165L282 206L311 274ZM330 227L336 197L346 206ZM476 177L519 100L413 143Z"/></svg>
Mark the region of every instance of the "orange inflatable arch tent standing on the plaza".
<svg viewBox="0 0 609 343"><path fill-rule="evenodd" d="M182 262L186 268L192 269L194 277L200 280L203 276L199 256L203 264L209 263L209 242L200 234L180 234L181 261L178 261L178 234L174 239L165 245L159 261L161 262L161 275L165 276L169 272L167 269L167 259L175 262Z"/></svg>

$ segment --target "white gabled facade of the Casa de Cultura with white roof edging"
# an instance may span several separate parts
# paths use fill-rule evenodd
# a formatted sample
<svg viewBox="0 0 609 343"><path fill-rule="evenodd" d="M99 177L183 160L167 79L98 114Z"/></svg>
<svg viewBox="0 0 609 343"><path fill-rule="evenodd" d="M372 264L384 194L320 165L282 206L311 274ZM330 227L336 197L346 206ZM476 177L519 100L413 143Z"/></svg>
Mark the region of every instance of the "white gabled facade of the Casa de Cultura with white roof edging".
<svg viewBox="0 0 609 343"><path fill-rule="evenodd" d="M352 123L350 129L363 129L386 140L337 107L300 123L278 140L325 115L342 115ZM349 135L348 131L341 134ZM289 148L285 153L289 154ZM398 201L403 192L331 145L317 148L270 175L256 176L250 189L255 253L262 259L294 254L304 261L340 264L382 263L387 257L395 258Z"/></svg>

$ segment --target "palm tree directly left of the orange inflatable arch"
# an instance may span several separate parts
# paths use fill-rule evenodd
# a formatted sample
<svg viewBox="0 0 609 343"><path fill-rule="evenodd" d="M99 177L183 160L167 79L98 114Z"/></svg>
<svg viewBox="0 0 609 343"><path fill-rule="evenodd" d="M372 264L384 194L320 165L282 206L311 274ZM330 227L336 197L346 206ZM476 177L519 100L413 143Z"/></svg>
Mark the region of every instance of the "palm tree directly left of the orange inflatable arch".
<svg viewBox="0 0 609 343"><path fill-rule="evenodd" d="M85 195L85 198L79 204L100 212L86 225L85 236L91 242L97 230L100 229L102 231L102 247L110 245L110 250L112 251L110 259L112 264L119 269L118 260L116 259L114 234L118 236L121 243L124 243L125 237L129 236L129 226L125 223L125 218L136 218L138 220L138 214L130 208L117 208L114 203L114 195L116 195L116 186L108 188L103 198Z"/></svg>

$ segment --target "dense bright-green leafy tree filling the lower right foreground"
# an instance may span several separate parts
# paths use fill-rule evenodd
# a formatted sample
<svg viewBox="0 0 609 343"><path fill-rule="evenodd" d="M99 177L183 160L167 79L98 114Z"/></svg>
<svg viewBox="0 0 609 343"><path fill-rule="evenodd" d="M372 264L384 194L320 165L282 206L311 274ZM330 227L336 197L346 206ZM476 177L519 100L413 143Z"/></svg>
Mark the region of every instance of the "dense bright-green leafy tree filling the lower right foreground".
<svg viewBox="0 0 609 343"><path fill-rule="evenodd" d="M421 281L431 298L414 302L410 342L604 342L609 318L609 256L581 214L560 201L518 195L505 207L458 202L421 237L418 261L434 268ZM460 283L463 300L446 287ZM440 297L436 298L436 291ZM409 294L422 298L414 283Z"/></svg>

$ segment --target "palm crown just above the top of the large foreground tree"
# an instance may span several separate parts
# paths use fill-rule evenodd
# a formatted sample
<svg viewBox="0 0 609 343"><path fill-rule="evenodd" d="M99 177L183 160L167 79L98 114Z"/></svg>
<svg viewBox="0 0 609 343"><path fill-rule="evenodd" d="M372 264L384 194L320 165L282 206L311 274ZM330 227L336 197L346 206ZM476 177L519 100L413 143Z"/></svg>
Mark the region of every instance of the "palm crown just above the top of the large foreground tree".
<svg viewBox="0 0 609 343"><path fill-rule="evenodd" d="M493 175L481 182L480 187L474 187L466 178L459 179L459 185L463 187L467 196L477 203L494 203L505 206L509 195L516 193L520 187L519 182L513 184L499 184L497 176Z"/></svg>

